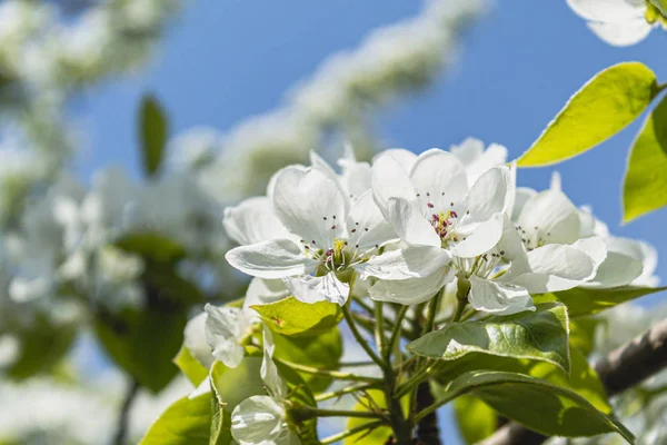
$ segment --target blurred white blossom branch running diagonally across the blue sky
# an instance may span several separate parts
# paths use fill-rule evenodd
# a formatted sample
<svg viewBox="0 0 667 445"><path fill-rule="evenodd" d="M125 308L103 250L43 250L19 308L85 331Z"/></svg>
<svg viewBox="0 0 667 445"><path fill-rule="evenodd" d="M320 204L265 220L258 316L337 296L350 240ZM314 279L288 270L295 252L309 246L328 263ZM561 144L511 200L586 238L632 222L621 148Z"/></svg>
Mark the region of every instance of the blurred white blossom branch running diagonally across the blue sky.
<svg viewBox="0 0 667 445"><path fill-rule="evenodd" d="M237 199L260 191L273 171L303 162L331 128L346 134L364 126L374 107L428 83L449 67L460 30L486 4L428 1L417 17L375 30L356 50L331 56L292 90L282 108L245 120L226 135L225 151L202 169L202 180Z"/></svg>

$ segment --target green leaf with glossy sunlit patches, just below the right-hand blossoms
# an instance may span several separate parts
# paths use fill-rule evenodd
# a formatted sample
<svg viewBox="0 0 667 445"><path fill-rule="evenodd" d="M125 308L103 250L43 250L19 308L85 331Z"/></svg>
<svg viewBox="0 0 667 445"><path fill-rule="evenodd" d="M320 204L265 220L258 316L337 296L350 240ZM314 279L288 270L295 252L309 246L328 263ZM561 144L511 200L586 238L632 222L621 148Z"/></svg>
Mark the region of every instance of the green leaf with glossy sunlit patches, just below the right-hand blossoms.
<svg viewBox="0 0 667 445"><path fill-rule="evenodd" d="M535 313L452 323L407 348L442 360L457 360L470 353L544 360L569 372L567 309L561 304L547 304Z"/></svg>

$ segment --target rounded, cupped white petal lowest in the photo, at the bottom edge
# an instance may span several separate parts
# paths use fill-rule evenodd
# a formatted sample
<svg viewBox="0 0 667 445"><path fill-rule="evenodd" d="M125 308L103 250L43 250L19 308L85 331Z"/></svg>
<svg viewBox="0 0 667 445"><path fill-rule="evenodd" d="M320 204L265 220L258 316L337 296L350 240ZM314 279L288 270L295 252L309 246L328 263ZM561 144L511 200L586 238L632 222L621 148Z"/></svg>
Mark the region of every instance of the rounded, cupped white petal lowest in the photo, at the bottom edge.
<svg viewBox="0 0 667 445"><path fill-rule="evenodd" d="M270 443L280 437L283 423L285 409L280 404L269 396L252 396L233 408L231 435L240 445Z"/></svg>

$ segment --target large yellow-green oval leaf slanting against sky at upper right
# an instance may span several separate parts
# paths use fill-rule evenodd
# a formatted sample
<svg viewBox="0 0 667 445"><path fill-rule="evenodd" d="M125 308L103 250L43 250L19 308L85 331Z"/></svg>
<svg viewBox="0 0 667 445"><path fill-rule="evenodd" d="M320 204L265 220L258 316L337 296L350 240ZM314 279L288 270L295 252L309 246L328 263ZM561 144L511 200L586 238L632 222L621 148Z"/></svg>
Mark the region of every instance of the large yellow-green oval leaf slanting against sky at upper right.
<svg viewBox="0 0 667 445"><path fill-rule="evenodd" d="M595 147L641 115L658 92L656 76L639 62L605 69L568 100L517 165L548 166Z"/></svg>

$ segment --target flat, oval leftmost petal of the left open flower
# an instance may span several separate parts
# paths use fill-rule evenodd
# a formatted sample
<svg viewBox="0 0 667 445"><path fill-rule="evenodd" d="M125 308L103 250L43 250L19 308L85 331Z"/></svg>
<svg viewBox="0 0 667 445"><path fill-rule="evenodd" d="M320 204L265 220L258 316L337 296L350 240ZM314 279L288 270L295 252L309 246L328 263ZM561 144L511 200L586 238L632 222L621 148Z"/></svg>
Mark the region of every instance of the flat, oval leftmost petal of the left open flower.
<svg viewBox="0 0 667 445"><path fill-rule="evenodd" d="M242 273L260 278L310 274L317 260L306 257L289 239L261 241L229 250L225 258Z"/></svg>

